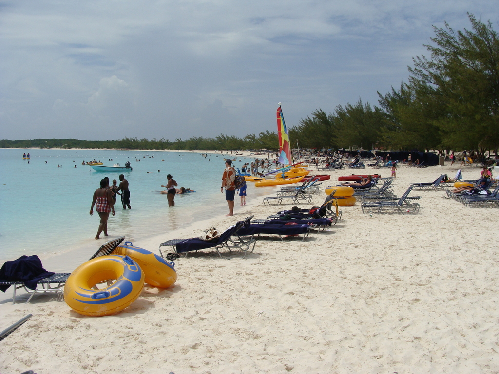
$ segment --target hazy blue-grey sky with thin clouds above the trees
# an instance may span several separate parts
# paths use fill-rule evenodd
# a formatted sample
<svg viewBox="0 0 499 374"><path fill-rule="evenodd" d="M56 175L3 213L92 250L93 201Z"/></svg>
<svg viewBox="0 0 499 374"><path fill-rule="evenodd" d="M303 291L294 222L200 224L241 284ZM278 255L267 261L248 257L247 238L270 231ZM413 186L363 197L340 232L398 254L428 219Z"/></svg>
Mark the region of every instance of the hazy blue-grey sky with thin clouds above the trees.
<svg viewBox="0 0 499 374"><path fill-rule="evenodd" d="M0 0L0 139L244 137L378 104L497 0Z"/></svg>

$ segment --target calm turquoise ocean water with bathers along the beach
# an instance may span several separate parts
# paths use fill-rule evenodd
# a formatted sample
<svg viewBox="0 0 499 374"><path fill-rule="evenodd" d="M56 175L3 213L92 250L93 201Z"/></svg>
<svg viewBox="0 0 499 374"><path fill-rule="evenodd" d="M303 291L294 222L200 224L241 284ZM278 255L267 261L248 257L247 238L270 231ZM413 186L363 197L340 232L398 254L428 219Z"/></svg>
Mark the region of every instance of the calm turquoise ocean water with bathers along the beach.
<svg viewBox="0 0 499 374"><path fill-rule="evenodd" d="M30 154L29 164L23 153ZM220 154L205 158L181 152L0 149L0 263L22 254L50 255L95 246L99 216L95 209L93 216L89 214L93 192L104 177L119 184L120 173L98 173L81 165L94 158L109 166L130 161L133 168L123 173L130 183L132 209L123 210L118 196L116 215L109 217L110 236L125 235L139 243L141 238L227 213L220 193L225 168ZM243 161L249 159L238 158L235 166L240 168ZM196 190L177 195L172 208L167 196L159 193L168 174L179 187ZM267 188L248 185L248 200L268 193Z"/></svg>

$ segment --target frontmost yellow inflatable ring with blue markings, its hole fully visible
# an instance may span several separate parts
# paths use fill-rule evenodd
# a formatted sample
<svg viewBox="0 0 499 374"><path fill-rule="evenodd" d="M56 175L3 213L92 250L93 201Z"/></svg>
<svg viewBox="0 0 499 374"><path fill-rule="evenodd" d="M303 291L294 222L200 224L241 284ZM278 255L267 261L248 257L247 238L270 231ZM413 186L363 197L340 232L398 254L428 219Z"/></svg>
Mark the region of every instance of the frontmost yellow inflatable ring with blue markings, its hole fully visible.
<svg viewBox="0 0 499 374"><path fill-rule="evenodd" d="M107 280L116 281L102 290L92 289ZM144 272L128 256L94 258L78 266L64 286L64 301L79 314L109 316L132 304L144 287Z"/></svg>

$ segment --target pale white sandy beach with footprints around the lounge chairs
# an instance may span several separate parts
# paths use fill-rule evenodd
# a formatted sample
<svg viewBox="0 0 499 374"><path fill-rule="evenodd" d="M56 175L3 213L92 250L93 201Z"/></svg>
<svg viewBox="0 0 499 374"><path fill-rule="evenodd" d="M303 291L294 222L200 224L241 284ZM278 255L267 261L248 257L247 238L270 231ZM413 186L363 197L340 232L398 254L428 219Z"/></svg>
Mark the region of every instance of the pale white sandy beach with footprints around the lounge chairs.
<svg viewBox="0 0 499 374"><path fill-rule="evenodd" d="M395 192L458 169L399 168ZM463 168L463 176L480 171ZM335 171L323 186L353 172ZM368 167L361 174L369 173L389 176ZM499 209L468 208L442 198L445 191L412 195L423 196L419 214L370 216L357 202L304 241L259 239L246 259L180 258L173 288L145 287L114 316L82 316L43 295L30 304L3 301L0 330L33 317L0 342L0 372L498 373ZM312 205L325 197L315 195ZM249 195L244 207L236 200L233 217L134 245L159 253L167 239L277 210ZM91 254L42 260L47 270L71 271Z"/></svg>

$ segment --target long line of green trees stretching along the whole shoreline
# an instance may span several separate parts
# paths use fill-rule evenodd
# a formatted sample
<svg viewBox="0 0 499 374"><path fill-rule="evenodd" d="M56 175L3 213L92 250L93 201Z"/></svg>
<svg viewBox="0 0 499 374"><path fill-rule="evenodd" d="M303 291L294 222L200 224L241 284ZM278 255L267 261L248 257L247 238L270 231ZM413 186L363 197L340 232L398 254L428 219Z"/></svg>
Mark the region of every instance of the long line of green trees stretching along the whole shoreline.
<svg viewBox="0 0 499 374"><path fill-rule="evenodd" d="M401 151L486 150L499 146L499 34L489 21L468 14L472 29L455 31L447 23L434 27L430 58L416 56L409 80L392 87L372 107L355 104L322 109L288 127L292 147L378 148ZM278 148L274 132L244 138L219 135L186 140L125 138L117 141L35 139L0 141L0 147L120 148L174 150L237 150Z"/></svg>

